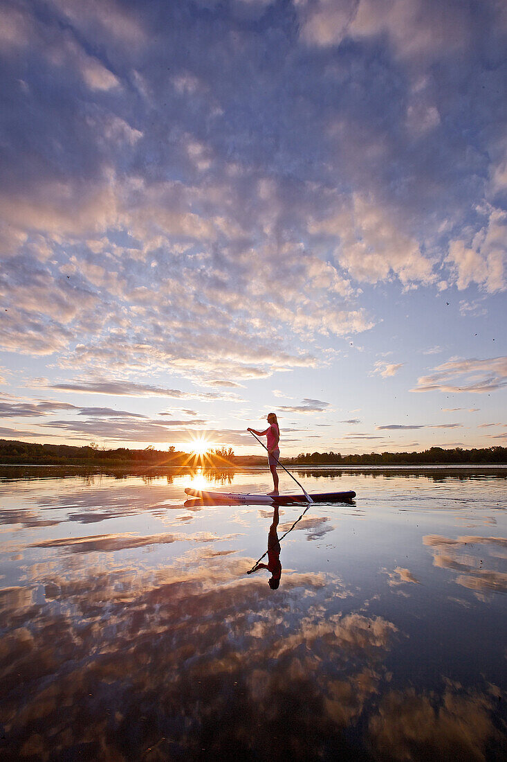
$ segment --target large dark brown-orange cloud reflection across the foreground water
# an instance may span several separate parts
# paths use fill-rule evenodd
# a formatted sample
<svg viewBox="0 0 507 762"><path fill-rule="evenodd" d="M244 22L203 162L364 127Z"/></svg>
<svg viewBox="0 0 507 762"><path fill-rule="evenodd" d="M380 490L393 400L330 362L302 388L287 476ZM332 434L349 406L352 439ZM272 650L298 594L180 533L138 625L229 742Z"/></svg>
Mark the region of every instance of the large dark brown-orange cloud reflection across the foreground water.
<svg viewBox="0 0 507 762"><path fill-rule="evenodd" d="M273 596L264 581L239 576L248 559L209 548L186 561L144 574L47 565L41 575L39 565L33 584L43 580L45 604L27 589L22 600L8 594L6 759L196 759L202 749L225 759L281 760L282 749L301 760L356 759L363 712L372 759L416 759L428 743L481 759L496 737L489 696L448 688L438 708L408 690L378 704L397 626L331 613L340 587L331 575L288 572ZM143 756L154 747L161 756Z"/></svg>

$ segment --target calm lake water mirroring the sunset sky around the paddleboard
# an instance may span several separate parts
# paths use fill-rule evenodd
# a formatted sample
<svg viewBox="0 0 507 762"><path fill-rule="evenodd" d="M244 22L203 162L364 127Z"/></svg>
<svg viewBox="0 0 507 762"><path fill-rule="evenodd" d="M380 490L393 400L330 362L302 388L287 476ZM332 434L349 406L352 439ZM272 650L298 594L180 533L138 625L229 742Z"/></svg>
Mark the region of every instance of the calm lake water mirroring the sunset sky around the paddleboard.
<svg viewBox="0 0 507 762"><path fill-rule="evenodd" d="M505 760L506 476L0 468L0 757Z"/></svg>

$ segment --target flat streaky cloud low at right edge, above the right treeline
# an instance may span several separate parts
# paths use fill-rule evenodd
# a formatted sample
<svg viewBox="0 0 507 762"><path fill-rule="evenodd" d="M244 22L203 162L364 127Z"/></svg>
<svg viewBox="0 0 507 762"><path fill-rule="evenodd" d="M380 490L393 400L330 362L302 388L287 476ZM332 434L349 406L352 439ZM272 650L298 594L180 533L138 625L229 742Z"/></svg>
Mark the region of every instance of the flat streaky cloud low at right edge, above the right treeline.
<svg viewBox="0 0 507 762"><path fill-rule="evenodd" d="M459 386L451 383L462 379ZM411 392L473 392L486 394L507 385L507 357L491 357L487 360L448 360L434 368L429 376L417 379Z"/></svg>

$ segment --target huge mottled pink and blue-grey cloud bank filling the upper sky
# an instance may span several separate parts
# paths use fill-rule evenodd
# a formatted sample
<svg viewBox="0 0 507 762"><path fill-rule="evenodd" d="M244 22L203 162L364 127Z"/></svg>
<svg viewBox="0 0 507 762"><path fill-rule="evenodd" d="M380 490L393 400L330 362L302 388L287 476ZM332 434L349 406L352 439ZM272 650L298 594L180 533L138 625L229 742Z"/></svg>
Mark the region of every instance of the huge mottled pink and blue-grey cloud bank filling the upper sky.
<svg viewBox="0 0 507 762"><path fill-rule="evenodd" d="M5 8L5 351L234 392L336 362L370 284L505 288L501 4L81 5Z"/></svg>

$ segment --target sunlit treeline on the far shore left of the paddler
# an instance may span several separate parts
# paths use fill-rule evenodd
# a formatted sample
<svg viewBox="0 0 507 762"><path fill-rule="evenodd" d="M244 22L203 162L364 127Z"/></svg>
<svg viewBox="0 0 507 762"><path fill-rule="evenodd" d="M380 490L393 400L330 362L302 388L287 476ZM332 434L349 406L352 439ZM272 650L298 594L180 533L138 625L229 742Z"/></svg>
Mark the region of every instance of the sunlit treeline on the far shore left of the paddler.
<svg viewBox="0 0 507 762"><path fill-rule="evenodd" d="M34 464L46 466L195 466L203 462L207 465L224 466L234 462L234 452L229 447L212 450L206 456L194 456L182 450L169 447L155 450L149 446L145 450L129 450L118 447L105 450L96 444L73 447L69 444L36 444L0 440L0 464Z"/></svg>

